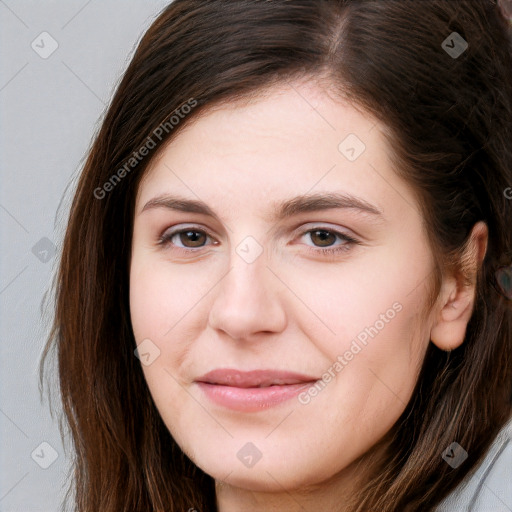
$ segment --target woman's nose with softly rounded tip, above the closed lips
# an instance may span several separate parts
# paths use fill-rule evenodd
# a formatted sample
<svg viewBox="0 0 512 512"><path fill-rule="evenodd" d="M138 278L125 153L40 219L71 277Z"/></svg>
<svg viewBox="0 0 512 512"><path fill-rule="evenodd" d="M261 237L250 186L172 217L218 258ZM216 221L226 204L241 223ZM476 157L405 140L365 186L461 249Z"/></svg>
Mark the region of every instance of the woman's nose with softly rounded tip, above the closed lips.
<svg viewBox="0 0 512 512"><path fill-rule="evenodd" d="M247 263L233 253L230 270L216 289L209 313L211 328L245 341L285 329L282 283L267 268L263 255Z"/></svg>

